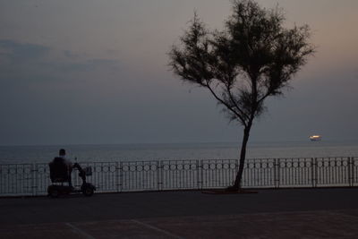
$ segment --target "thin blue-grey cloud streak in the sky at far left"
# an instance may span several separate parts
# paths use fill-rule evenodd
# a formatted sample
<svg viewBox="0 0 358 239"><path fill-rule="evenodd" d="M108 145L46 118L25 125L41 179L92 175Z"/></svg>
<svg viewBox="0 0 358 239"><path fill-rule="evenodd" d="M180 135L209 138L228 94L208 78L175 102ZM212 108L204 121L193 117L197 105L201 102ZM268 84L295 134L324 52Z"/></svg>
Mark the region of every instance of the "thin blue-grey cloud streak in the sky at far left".
<svg viewBox="0 0 358 239"><path fill-rule="evenodd" d="M83 80L79 74L118 71L120 62L116 59L84 58L69 50L56 51L38 44L0 39L0 81L3 82Z"/></svg>

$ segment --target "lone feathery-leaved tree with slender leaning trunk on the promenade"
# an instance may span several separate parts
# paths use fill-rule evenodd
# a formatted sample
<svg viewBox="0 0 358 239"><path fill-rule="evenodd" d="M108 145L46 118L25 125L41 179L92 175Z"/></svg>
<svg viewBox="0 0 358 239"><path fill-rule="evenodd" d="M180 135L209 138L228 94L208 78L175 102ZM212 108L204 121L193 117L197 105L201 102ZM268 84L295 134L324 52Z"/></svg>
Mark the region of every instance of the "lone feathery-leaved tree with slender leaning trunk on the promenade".
<svg viewBox="0 0 358 239"><path fill-rule="evenodd" d="M264 100L283 94L314 48L307 25L286 29L276 7L234 0L224 30L207 30L197 14L168 53L169 66L183 81L206 88L231 121L243 125L239 170L231 190L240 190L246 145Z"/></svg>

